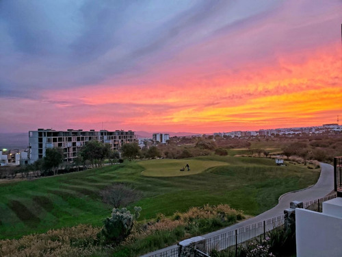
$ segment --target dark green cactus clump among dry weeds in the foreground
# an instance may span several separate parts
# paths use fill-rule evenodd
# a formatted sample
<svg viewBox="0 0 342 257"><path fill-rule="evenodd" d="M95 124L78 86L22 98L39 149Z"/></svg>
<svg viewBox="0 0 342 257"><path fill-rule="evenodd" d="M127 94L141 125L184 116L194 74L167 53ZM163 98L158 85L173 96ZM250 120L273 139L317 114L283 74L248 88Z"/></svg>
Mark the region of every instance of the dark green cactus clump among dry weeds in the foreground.
<svg viewBox="0 0 342 257"><path fill-rule="evenodd" d="M135 214L132 215L127 208L114 208L111 217L103 221L101 234L105 237L105 243L118 244L124 240L133 228L133 223L140 217L141 207L134 207Z"/></svg>

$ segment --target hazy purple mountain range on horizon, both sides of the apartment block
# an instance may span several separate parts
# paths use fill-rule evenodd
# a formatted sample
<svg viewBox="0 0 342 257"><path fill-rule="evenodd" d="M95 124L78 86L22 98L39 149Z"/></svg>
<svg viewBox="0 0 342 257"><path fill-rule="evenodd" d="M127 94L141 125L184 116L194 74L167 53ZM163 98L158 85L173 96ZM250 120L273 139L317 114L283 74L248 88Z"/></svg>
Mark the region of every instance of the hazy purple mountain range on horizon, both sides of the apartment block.
<svg viewBox="0 0 342 257"><path fill-rule="evenodd" d="M156 132L136 131L137 138L152 138ZM192 136L190 132L157 132L170 134L170 136ZM0 133L0 149L26 149L29 146L28 133Z"/></svg>

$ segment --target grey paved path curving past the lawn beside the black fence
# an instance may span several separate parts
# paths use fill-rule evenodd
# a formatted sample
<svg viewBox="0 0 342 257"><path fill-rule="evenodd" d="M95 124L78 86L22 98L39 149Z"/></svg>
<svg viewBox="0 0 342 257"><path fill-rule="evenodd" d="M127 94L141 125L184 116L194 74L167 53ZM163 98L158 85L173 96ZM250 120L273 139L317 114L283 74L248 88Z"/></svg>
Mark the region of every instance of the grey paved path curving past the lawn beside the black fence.
<svg viewBox="0 0 342 257"><path fill-rule="evenodd" d="M227 228L223 228L221 230L217 230L215 232L205 234L203 235L203 237L209 238L211 236L217 236L219 234L223 234L231 230L236 230L237 228L242 228L246 225L251 225L259 221L264 221L265 219L271 219L273 217L280 216L284 214L285 209L290 207L291 201L305 202L305 201L311 201L311 200L325 197L326 195L328 195L334 190L334 167L326 163L320 163L320 164L321 164L321 175L319 176L319 179L314 186L311 186L310 188L307 188L301 191L295 191L295 192L282 195L279 199L278 205L276 205L274 208L267 210L266 212L263 212L256 217L247 219L246 221L241 221L240 223L231 225ZM155 252L150 252L149 254L145 254L142 257L155 256L156 254L166 252L168 250L174 249L175 247L176 245L172 245L170 247L159 249ZM163 256L168 256L168 254L163 255Z"/></svg>

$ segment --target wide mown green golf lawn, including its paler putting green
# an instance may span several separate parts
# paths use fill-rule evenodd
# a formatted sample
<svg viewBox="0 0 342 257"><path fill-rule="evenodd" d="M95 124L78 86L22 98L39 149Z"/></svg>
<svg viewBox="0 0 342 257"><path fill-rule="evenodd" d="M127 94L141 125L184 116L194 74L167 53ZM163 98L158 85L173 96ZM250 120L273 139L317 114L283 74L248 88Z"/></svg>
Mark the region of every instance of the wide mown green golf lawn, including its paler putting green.
<svg viewBox="0 0 342 257"><path fill-rule="evenodd" d="M189 163L191 171L179 171ZM144 171L144 172L143 172ZM181 174L181 175L180 175ZM126 162L101 169L38 180L0 184L0 238L18 238L79 223L102 225L111 206L98 192L124 182L143 192L140 220L172 215L191 206L229 204L258 215L277 204L282 193L315 184L318 170L266 158L206 156L183 160Z"/></svg>

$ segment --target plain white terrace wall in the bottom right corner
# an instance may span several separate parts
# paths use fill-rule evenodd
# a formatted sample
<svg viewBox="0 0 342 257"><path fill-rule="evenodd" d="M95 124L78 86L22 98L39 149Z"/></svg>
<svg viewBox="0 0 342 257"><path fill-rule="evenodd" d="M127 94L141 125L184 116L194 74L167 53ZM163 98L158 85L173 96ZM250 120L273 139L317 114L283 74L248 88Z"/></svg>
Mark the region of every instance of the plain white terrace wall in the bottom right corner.
<svg viewBox="0 0 342 257"><path fill-rule="evenodd" d="M342 256L342 198L323 203L323 213L295 209L297 257Z"/></svg>

